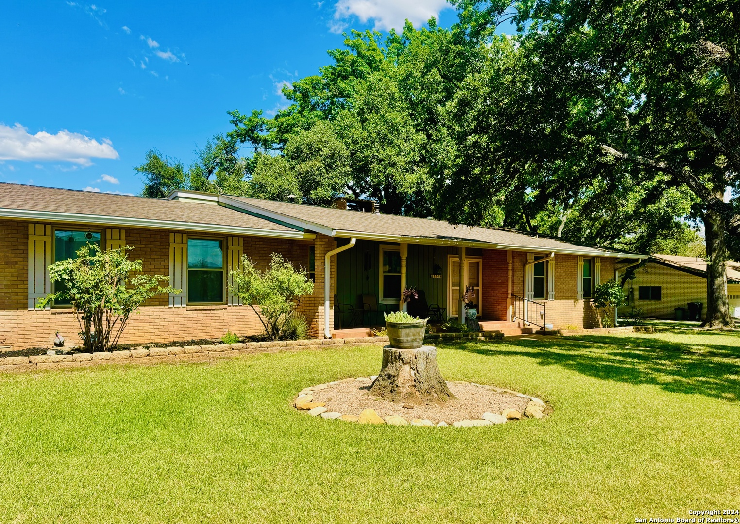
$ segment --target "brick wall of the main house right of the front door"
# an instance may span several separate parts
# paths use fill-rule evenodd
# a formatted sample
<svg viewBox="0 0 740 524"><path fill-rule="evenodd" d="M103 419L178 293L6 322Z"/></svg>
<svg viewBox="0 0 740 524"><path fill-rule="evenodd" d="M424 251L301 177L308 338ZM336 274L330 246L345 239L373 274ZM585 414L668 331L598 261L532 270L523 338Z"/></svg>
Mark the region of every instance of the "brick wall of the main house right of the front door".
<svg viewBox="0 0 740 524"><path fill-rule="evenodd" d="M524 296L524 265L527 253L513 251L511 292ZM601 282L614 278L614 259L602 257ZM483 251L483 316L505 320L508 299L506 251ZM555 255L555 300L545 300L545 321L554 329L592 329L599 327L596 309L588 300L578 299L578 256ZM500 282L499 282L500 281Z"/></svg>

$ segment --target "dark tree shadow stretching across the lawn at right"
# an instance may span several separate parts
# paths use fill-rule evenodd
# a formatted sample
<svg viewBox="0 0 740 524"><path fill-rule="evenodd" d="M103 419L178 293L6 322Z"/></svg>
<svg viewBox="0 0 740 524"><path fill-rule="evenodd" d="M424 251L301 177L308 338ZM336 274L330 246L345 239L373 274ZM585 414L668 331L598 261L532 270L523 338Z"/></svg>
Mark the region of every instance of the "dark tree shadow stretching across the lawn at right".
<svg viewBox="0 0 740 524"><path fill-rule="evenodd" d="M497 344L468 342L451 347L487 356L531 357L542 366L560 366L605 381L654 384L670 392L740 399L738 346L642 337L578 338L511 338ZM736 338L740 344L740 336ZM697 347L711 349L699 353Z"/></svg>

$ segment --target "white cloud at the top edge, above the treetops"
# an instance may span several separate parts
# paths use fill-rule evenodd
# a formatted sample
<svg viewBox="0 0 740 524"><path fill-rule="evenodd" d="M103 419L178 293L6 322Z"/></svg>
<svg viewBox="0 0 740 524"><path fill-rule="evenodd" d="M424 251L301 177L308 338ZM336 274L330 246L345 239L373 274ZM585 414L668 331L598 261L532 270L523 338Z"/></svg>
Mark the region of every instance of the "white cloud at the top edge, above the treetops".
<svg viewBox="0 0 740 524"><path fill-rule="evenodd" d="M432 16L439 19L440 11L451 7L446 0L339 0L329 30L341 33L353 16L363 24L373 20L377 30L401 30L406 18L418 27Z"/></svg>

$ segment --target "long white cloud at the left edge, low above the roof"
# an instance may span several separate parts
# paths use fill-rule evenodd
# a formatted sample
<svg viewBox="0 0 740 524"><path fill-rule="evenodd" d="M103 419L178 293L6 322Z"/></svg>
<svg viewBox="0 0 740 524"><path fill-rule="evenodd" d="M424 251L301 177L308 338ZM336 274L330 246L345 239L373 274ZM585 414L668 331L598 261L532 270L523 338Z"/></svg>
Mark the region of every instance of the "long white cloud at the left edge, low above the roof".
<svg viewBox="0 0 740 524"><path fill-rule="evenodd" d="M118 158L110 140L94 138L62 129L56 135L40 131L30 135L21 124L0 123L0 160L62 160L90 166L91 158Z"/></svg>

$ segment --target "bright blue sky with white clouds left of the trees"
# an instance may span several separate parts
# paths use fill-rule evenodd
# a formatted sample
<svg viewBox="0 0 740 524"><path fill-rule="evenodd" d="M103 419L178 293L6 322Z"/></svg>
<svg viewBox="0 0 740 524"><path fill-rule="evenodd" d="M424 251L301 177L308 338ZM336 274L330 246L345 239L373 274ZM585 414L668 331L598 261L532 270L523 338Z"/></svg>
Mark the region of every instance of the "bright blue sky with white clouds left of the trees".
<svg viewBox="0 0 740 524"><path fill-rule="evenodd" d="M147 150L187 164L229 109L274 112L342 30L455 16L444 0L3 4L0 182L134 194Z"/></svg>

